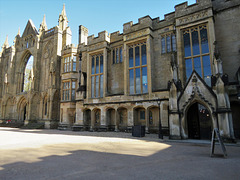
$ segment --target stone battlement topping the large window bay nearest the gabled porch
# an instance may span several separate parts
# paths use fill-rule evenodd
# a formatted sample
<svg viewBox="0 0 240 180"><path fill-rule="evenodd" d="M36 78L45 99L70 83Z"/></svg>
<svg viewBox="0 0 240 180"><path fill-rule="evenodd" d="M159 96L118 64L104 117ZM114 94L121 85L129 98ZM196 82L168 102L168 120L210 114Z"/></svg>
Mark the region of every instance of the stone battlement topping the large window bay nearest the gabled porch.
<svg viewBox="0 0 240 180"><path fill-rule="evenodd" d="M207 9L209 7L212 7L211 0L196 0L196 3L192 5L188 5L188 2L177 4L175 6L175 17L178 18L181 16L185 16L187 14Z"/></svg>

